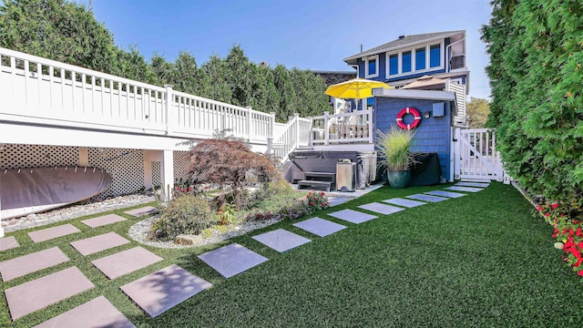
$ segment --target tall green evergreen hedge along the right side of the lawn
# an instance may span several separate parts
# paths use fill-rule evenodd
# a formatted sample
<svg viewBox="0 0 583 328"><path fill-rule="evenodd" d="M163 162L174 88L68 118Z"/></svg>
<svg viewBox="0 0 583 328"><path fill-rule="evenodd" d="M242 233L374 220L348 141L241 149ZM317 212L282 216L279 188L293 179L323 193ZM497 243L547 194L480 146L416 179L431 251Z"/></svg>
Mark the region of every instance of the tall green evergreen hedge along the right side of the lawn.
<svg viewBox="0 0 583 328"><path fill-rule="evenodd" d="M492 87L488 125L522 186L583 207L583 6L495 0L482 29Z"/></svg>

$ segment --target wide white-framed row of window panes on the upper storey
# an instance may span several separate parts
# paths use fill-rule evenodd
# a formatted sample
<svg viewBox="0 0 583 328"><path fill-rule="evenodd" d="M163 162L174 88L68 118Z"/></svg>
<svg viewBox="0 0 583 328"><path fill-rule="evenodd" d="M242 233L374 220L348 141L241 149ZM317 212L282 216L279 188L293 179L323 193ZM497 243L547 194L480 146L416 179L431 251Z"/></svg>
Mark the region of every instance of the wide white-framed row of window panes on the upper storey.
<svg viewBox="0 0 583 328"><path fill-rule="evenodd" d="M444 68L444 43L404 48L386 54L386 78Z"/></svg>

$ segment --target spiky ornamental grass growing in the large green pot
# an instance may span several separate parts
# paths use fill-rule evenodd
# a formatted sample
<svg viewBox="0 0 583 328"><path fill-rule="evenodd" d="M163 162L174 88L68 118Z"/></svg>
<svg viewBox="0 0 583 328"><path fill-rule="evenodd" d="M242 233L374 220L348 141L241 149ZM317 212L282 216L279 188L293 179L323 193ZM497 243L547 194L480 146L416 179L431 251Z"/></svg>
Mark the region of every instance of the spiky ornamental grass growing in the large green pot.
<svg viewBox="0 0 583 328"><path fill-rule="evenodd" d="M405 170L414 163L411 141L414 131L391 127L388 132L376 131L376 147L381 154L379 166L388 170Z"/></svg>

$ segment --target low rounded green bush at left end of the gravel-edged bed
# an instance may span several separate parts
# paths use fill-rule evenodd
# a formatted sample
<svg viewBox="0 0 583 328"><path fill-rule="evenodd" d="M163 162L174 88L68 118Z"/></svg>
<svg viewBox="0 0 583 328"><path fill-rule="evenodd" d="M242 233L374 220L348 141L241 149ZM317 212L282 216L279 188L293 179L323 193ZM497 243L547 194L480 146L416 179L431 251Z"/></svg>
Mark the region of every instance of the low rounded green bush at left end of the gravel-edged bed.
<svg viewBox="0 0 583 328"><path fill-rule="evenodd" d="M152 230L156 239L171 240L179 234L199 234L219 221L208 200L185 194L170 201Z"/></svg>

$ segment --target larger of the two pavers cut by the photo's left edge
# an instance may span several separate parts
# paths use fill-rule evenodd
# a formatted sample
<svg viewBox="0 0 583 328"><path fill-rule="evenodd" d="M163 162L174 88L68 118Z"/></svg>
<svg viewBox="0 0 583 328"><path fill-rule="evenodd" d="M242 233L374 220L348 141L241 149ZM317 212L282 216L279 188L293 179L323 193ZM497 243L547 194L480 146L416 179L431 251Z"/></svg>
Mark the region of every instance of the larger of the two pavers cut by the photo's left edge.
<svg viewBox="0 0 583 328"><path fill-rule="evenodd" d="M50 268L56 264L69 261L63 251L53 247L45 251L19 256L15 259L0 262L0 273L4 282L22 277L31 272Z"/></svg>

